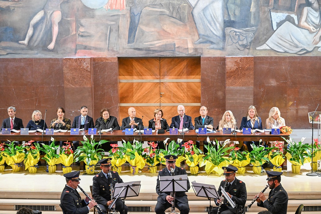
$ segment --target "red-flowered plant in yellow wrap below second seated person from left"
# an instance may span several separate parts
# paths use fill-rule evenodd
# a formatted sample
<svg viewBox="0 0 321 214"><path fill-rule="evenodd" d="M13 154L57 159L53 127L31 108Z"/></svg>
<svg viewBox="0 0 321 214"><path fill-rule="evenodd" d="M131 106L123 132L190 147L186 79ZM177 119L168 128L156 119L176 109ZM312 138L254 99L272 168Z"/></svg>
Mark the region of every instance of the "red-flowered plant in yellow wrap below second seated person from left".
<svg viewBox="0 0 321 214"><path fill-rule="evenodd" d="M24 144L26 149L25 159L23 161L25 170L29 170L30 173L36 173L38 167L38 161L40 159L39 150L33 144L33 140L28 141Z"/></svg>

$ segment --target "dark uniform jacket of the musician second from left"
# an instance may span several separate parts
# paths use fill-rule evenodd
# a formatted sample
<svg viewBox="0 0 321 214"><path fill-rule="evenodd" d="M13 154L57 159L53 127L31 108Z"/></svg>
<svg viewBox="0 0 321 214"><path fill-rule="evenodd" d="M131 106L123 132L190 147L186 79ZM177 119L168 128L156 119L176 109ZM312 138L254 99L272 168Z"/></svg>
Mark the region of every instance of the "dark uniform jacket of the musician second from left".
<svg viewBox="0 0 321 214"><path fill-rule="evenodd" d="M115 188L116 183L124 183L123 180L119 177L118 172L111 171L111 176L113 180L113 187ZM107 204L108 201L111 201L110 197L110 178L100 172L92 178L92 196L94 200L102 205Z"/></svg>

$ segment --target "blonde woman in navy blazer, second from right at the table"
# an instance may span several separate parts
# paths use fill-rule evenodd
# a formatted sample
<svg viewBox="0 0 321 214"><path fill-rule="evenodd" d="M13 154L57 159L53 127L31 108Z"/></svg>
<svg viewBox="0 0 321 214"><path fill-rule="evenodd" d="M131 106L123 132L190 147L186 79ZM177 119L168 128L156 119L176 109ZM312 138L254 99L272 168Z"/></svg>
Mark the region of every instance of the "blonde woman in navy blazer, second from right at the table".
<svg viewBox="0 0 321 214"><path fill-rule="evenodd" d="M262 129L262 120L261 117L257 115L255 106L248 107L246 116L242 118L240 130L243 128L250 128L253 130ZM253 150L250 146L252 143L255 143L256 146L259 145L259 141L244 141L243 143L247 146L248 151Z"/></svg>

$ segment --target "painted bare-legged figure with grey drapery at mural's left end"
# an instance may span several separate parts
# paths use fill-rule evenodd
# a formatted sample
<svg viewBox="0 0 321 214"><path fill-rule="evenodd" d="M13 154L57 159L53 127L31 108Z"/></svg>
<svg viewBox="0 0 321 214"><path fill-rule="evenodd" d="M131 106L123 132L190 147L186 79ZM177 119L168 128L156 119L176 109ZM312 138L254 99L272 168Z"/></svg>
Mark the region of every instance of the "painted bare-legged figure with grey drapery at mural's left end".
<svg viewBox="0 0 321 214"><path fill-rule="evenodd" d="M50 31L51 26L52 40L47 48L52 50L55 47L59 31L58 23L61 20L60 4L63 1L64 0L48 0L45 7L32 18L26 38L23 41L19 41L19 43L26 46L28 46L28 44L30 45L29 41L33 35L31 46L37 46L40 41L44 40L45 35L47 35L48 31ZM37 29L37 31L34 33L35 25L38 22L39 29Z"/></svg>

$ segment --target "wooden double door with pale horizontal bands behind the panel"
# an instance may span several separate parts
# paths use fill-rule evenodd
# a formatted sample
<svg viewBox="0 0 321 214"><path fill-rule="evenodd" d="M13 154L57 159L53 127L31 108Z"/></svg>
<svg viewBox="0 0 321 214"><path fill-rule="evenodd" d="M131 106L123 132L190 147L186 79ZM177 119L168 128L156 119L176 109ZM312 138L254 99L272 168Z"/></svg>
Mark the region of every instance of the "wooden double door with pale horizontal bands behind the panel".
<svg viewBox="0 0 321 214"><path fill-rule="evenodd" d="M194 124L201 105L200 57L118 58L118 64L120 120L134 107L136 117L144 116L148 127L154 110L160 108L170 125L171 117L178 115L177 106L184 105Z"/></svg>

